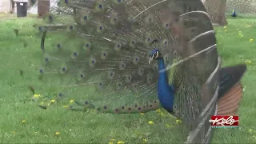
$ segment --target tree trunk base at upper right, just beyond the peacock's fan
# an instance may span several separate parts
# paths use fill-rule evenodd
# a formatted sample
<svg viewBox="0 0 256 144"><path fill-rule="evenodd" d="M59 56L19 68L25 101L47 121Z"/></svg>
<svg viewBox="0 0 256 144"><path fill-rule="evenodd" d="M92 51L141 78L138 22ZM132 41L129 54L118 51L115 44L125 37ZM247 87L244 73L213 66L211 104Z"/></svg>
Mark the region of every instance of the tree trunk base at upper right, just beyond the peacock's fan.
<svg viewBox="0 0 256 144"><path fill-rule="evenodd" d="M212 23L217 23L220 26L227 25L225 17L226 0L206 0L204 5Z"/></svg>

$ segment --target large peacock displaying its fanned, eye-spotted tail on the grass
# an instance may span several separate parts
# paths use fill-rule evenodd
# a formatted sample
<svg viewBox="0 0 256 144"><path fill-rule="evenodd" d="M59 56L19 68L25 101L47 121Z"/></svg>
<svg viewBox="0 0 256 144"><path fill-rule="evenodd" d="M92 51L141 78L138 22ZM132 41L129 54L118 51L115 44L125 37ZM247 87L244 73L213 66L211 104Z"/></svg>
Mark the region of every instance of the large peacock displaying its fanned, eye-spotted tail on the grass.
<svg viewBox="0 0 256 144"><path fill-rule="evenodd" d="M34 27L42 36L41 89L60 103L73 98L70 110L163 107L191 125L205 107L202 85L218 51L200 0L60 0ZM218 114L237 113L245 71L244 64L220 70Z"/></svg>

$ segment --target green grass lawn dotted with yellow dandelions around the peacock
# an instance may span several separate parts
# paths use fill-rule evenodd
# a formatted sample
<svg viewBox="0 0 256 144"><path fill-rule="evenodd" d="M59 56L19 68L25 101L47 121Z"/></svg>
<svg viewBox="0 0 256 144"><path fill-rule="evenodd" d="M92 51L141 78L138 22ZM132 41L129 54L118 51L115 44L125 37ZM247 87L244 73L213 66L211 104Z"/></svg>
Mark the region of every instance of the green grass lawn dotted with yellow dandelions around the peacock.
<svg viewBox="0 0 256 144"><path fill-rule="evenodd" d="M163 110L122 115L73 112L62 106L39 109L30 100L33 95L26 87L38 82L37 66L42 53L40 39L32 27L36 21L0 16L0 143L181 142L174 135L174 118ZM226 28L216 28L222 65L246 62L248 71L242 79L245 91L239 108L240 127L214 130L212 142L255 143L256 18L230 18L228 22ZM14 29L19 30L18 37ZM24 70L23 77L18 70Z"/></svg>

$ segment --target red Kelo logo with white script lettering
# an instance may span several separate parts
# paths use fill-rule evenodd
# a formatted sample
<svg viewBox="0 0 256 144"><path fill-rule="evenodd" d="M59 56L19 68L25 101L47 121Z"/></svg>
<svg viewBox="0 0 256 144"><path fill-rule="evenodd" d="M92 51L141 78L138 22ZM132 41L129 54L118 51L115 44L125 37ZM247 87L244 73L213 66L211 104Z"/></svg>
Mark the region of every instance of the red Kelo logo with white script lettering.
<svg viewBox="0 0 256 144"><path fill-rule="evenodd" d="M234 128L238 127L239 118L238 116L215 115L211 116L209 122L213 128Z"/></svg>

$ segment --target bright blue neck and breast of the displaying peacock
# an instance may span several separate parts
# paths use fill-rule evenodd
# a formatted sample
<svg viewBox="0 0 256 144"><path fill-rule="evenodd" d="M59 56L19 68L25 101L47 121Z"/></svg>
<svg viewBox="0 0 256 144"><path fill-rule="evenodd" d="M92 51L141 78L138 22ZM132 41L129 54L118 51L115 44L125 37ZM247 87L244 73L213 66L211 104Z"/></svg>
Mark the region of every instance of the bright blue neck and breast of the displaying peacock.
<svg viewBox="0 0 256 144"><path fill-rule="evenodd" d="M169 81L166 72L166 66L163 58L158 58L158 99L168 112L173 112L174 106L174 90L169 86Z"/></svg>

